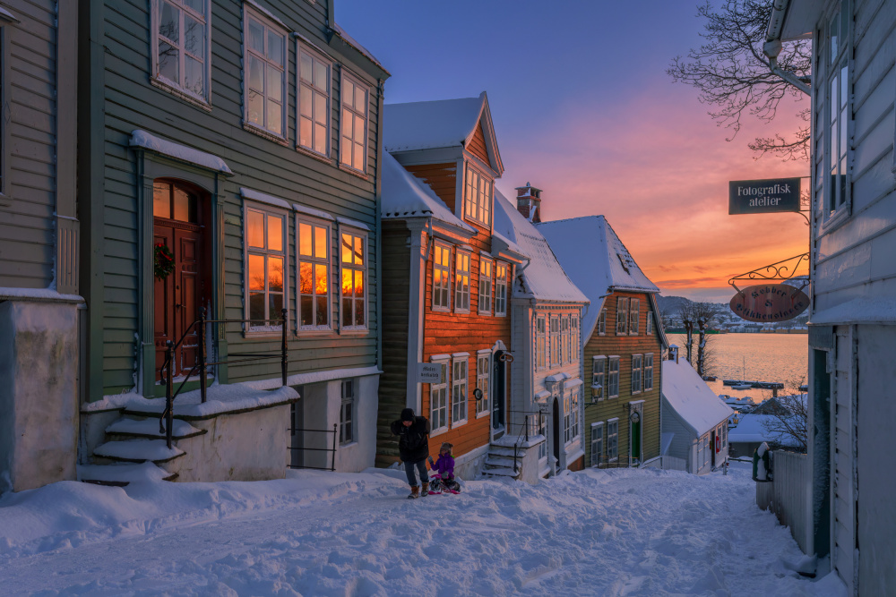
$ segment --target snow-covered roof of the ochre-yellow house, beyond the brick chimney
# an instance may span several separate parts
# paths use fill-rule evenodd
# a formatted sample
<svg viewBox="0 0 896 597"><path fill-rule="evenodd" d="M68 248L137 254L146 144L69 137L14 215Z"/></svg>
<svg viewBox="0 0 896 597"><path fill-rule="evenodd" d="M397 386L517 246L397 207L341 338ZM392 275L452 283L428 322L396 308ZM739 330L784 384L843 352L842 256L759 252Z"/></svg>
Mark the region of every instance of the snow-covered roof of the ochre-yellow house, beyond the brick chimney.
<svg viewBox="0 0 896 597"><path fill-rule="evenodd" d="M598 321L600 307L614 291L659 293L659 288L632 259L603 216L541 222L536 225L575 286L591 305L582 318L582 333L590 337Z"/></svg>

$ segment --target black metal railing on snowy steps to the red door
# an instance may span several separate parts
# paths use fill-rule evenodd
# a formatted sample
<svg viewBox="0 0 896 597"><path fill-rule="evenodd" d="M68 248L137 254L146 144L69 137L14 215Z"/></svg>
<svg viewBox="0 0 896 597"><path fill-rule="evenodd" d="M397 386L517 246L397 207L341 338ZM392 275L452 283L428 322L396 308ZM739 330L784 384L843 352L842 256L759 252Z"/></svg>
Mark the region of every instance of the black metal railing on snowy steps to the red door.
<svg viewBox="0 0 896 597"><path fill-rule="evenodd" d="M168 448L171 448L171 430L174 426L174 400L175 398L177 398L177 395L180 394L181 390L184 389L186 382L193 377L194 373L198 372L199 374L199 393L202 397L203 404L208 397L208 388L206 388L206 376L209 367L235 364L238 362L254 362L279 358L280 380L282 381L283 386L287 385L287 367L289 364L289 351L287 348L287 328L289 328L289 311L284 309L280 312L283 315L283 319L281 320L208 320L205 319L205 308L202 307L199 310L199 319L195 320L193 323L186 327L183 335L180 337L180 339L177 340L176 343L171 342L170 340L166 341L165 361L162 362L162 366L159 367L159 378L165 384L165 410L162 411L162 414L159 417L159 433L165 434L165 441L168 444ZM229 354L228 357L236 356L240 358L237 358L236 360L228 358L225 361L205 362L205 332L206 327L209 324L226 325L228 323L240 323L244 325L251 325L252 323L261 322L263 322L265 325L281 325L282 334L280 338L280 354L232 353ZM172 391L172 388L174 386L174 353L177 348L184 344L184 340L187 336L189 336L190 332L194 328L196 330L196 336L199 338L199 354L197 355L197 362L184 376L184 380L177 387L177 390Z"/></svg>

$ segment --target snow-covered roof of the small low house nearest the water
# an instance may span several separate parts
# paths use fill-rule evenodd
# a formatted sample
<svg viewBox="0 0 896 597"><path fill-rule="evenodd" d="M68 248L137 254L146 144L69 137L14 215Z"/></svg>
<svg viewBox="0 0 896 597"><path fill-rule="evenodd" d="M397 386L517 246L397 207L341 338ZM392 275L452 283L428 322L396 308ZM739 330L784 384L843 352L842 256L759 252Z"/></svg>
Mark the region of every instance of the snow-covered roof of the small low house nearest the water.
<svg viewBox="0 0 896 597"><path fill-rule="evenodd" d="M663 399L698 438L734 414L684 359L663 361L662 388Z"/></svg>

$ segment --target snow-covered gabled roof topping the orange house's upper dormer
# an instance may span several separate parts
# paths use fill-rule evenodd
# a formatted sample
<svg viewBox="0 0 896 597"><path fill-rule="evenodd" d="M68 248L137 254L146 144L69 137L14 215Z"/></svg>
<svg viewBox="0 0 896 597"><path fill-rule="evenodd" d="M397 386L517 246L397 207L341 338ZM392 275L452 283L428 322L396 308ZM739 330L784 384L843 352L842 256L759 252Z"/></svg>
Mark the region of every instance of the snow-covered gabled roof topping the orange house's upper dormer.
<svg viewBox="0 0 896 597"><path fill-rule="evenodd" d="M461 148L472 139L480 121L492 161L490 166L501 175L504 165L495 141L485 91L478 98L386 104L383 107L383 148L392 153Z"/></svg>

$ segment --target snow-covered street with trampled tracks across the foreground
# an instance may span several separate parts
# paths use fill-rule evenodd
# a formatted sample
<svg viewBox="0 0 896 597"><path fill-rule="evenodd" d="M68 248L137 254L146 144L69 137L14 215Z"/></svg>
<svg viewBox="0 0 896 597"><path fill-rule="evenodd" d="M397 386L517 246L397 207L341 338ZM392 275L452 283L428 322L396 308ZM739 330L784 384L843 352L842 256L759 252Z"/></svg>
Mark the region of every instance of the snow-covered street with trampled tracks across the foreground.
<svg viewBox="0 0 896 597"><path fill-rule="evenodd" d="M747 471L585 471L405 499L397 471L61 482L0 499L0 593L840 595Z"/></svg>

